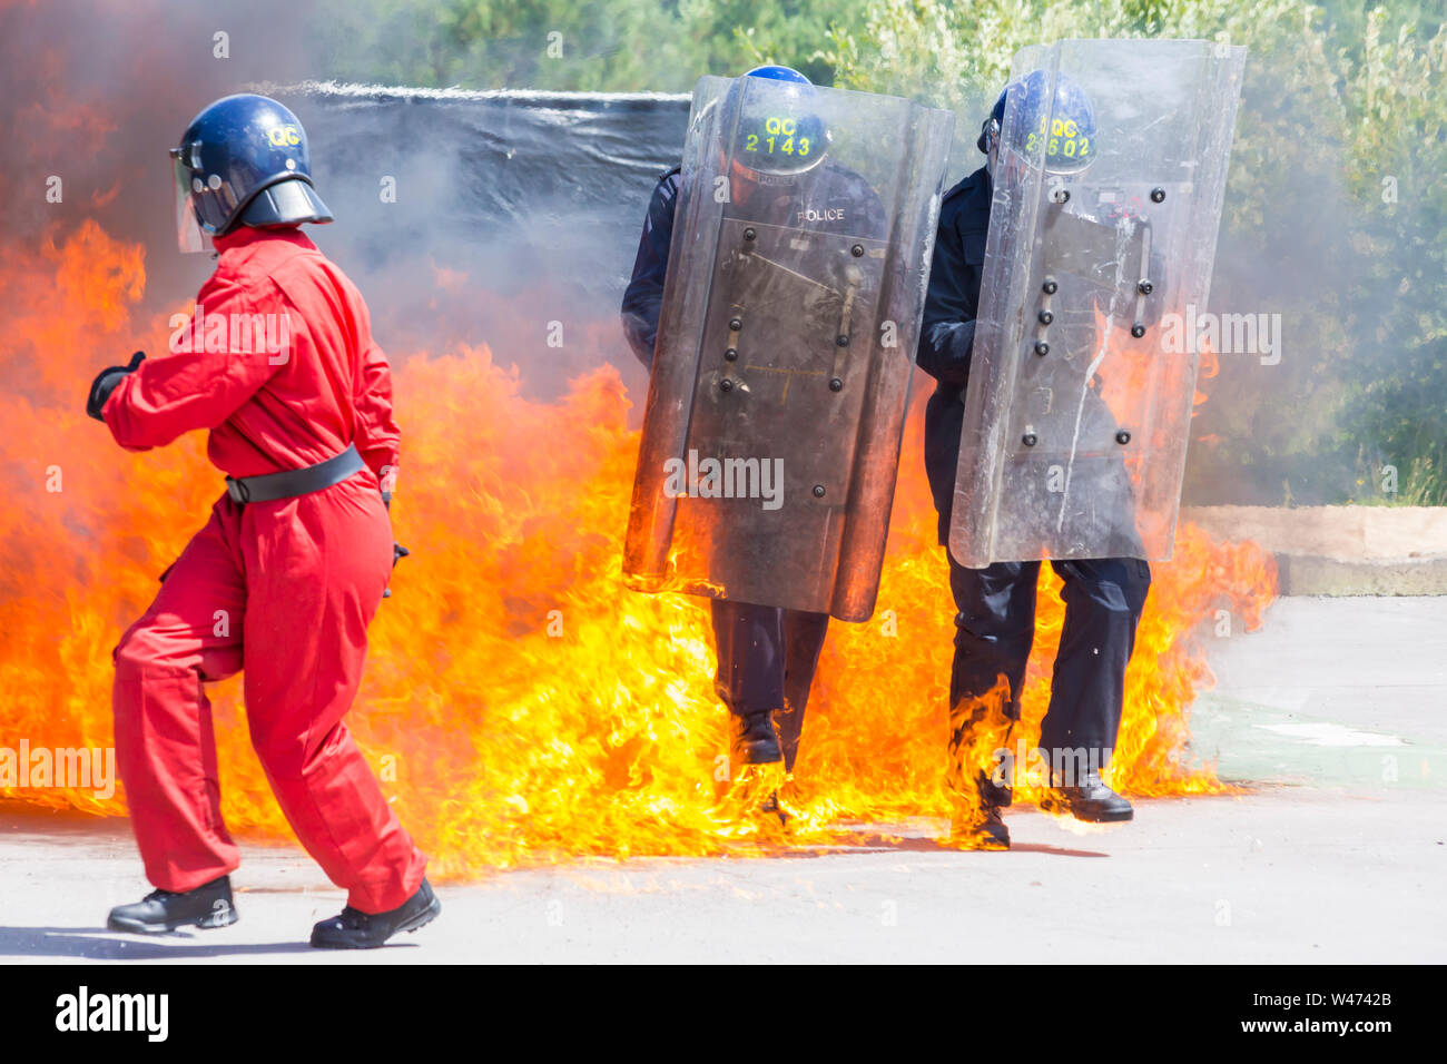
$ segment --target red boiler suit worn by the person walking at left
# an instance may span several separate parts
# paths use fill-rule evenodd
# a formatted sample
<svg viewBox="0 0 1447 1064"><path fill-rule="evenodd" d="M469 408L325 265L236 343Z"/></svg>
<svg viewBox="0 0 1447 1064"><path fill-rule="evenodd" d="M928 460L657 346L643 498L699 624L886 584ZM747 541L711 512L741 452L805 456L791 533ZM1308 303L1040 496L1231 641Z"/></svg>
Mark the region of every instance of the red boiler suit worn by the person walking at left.
<svg viewBox="0 0 1447 1064"><path fill-rule="evenodd" d="M252 744L297 838L349 905L386 912L417 892L427 858L341 718L392 569L379 488L401 440L391 371L362 295L298 229L242 227L214 243L216 272L197 297L204 320L287 314L289 343L143 362L106 401L116 442L146 450L210 428L211 462L237 478L317 465L349 443L368 468L295 498L223 495L122 637L116 754L136 841L164 890L240 863L221 822L204 691L240 669Z"/></svg>

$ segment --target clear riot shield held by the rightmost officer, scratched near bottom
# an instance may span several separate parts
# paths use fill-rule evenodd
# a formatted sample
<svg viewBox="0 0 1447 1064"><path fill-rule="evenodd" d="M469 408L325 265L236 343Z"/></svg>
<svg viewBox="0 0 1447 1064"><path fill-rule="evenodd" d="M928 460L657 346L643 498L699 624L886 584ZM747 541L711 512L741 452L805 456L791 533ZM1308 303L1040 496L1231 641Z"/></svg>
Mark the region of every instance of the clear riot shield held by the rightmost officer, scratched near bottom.
<svg viewBox="0 0 1447 1064"><path fill-rule="evenodd" d="M1207 301L1244 62L1204 41L1016 55L949 528L961 565L1171 557L1200 356L1181 323ZM1079 93L1092 139L1062 113Z"/></svg>

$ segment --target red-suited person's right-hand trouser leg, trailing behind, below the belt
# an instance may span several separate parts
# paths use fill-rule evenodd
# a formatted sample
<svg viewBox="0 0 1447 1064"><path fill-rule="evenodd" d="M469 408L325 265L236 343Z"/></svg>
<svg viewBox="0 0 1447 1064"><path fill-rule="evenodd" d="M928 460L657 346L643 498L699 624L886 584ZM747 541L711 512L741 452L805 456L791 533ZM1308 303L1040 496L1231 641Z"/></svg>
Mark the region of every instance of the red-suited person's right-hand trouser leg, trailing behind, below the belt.
<svg viewBox="0 0 1447 1064"><path fill-rule="evenodd" d="M366 628L392 569L392 527L369 475L250 504L246 717L297 838L362 912L411 898L427 858L402 829L341 718L366 657Z"/></svg>

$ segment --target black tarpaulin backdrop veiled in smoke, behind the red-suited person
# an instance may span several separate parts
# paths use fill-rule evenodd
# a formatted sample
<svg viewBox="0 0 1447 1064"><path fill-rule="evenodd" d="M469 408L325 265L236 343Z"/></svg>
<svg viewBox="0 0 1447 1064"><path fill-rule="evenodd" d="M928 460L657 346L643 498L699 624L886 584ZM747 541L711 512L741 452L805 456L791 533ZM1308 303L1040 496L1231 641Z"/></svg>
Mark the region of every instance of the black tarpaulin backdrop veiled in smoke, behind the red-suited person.
<svg viewBox="0 0 1447 1064"><path fill-rule="evenodd" d="M307 129L337 219L311 233L389 353L486 343L538 397L608 360L641 394L618 304L654 182L683 151L686 97L259 91Z"/></svg>

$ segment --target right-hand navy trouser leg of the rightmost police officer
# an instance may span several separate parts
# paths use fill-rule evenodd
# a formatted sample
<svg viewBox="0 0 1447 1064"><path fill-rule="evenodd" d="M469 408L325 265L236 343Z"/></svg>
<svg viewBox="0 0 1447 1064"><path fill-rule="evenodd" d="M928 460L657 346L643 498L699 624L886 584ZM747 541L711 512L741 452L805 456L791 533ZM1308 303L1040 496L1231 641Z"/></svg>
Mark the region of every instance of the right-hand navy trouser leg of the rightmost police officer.
<svg viewBox="0 0 1447 1064"><path fill-rule="evenodd" d="M1126 663L1150 591L1150 566L1133 557L1052 565L1065 580L1065 624L1040 747L1052 766L1098 770L1116 746Z"/></svg>

